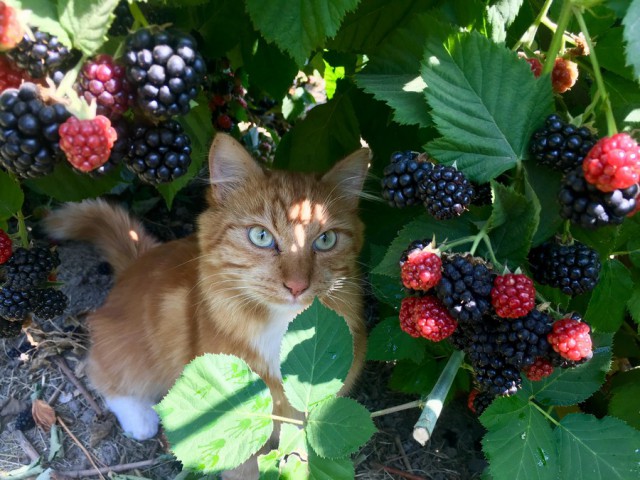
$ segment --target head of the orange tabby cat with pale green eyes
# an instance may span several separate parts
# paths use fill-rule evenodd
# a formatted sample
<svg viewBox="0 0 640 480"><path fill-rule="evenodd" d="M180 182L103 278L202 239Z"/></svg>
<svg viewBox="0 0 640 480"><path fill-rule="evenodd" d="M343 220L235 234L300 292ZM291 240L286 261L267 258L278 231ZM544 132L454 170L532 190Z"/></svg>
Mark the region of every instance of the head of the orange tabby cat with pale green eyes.
<svg viewBox="0 0 640 480"><path fill-rule="evenodd" d="M319 178L263 171L234 145L230 182L221 171L228 159L215 144L212 152L212 207L200 220L205 291L296 308L353 288L363 236L357 195L368 152Z"/></svg>

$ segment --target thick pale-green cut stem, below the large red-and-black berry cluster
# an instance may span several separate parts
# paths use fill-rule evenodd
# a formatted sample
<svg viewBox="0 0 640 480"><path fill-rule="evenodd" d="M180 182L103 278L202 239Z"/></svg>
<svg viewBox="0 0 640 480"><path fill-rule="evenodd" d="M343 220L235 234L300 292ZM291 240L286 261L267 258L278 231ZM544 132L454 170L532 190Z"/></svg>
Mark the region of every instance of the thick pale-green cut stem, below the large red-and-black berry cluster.
<svg viewBox="0 0 640 480"><path fill-rule="evenodd" d="M413 438L420 443L420 445L425 445L431 438L438 417L440 417L440 413L442 412L444 399L447 393L449 393L453 379L456 373L458 373L463 359L464 352L461 350L456 350L451 354L449 361L440 374L440 378L438 378L438 381L433 386L433 390L431 390L431 393L427 396L420 418L413 427Z"/></svg>

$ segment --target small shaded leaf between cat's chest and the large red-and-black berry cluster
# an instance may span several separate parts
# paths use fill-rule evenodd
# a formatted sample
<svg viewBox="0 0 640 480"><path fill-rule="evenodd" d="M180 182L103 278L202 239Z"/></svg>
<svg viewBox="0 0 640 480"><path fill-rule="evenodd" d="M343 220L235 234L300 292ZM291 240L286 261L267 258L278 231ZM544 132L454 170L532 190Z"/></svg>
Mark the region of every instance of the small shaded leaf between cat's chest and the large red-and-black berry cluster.
<svg viewBox="0 0 640 480"><path fill-rule="evenodd" d="M386 318L369 334L367 360L393 361L409 359L420 363L424 358L424 339L402 331L398 317Z"/></svg>

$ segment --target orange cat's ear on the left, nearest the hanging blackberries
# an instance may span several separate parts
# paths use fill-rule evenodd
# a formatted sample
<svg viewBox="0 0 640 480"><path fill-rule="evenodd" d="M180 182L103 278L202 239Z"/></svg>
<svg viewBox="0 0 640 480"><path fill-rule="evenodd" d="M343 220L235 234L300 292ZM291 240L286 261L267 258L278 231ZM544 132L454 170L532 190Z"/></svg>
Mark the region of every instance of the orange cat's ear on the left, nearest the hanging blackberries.
<svg viewBox="0 0 640 480"><path fill-rule="evenodd" d="M216 201L223 201L249 178L262 175L262 168L240 142L226 133L216 134L209 149L209 176Z"/></svg>

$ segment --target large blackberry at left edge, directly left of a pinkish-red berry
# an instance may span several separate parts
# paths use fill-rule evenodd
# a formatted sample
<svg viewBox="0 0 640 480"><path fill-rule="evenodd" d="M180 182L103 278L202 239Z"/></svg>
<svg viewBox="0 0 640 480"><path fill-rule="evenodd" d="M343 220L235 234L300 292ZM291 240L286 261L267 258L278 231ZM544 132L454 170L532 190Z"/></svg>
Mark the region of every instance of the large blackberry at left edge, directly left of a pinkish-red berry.
<svg viewBox="0 0 640 480"><path fill-rule="evenodd" d="M58 128L69 116L60 103L46 105L33 83L2 92L0 164L22 178L51 173L55 164L64 158Z"/></svg>

